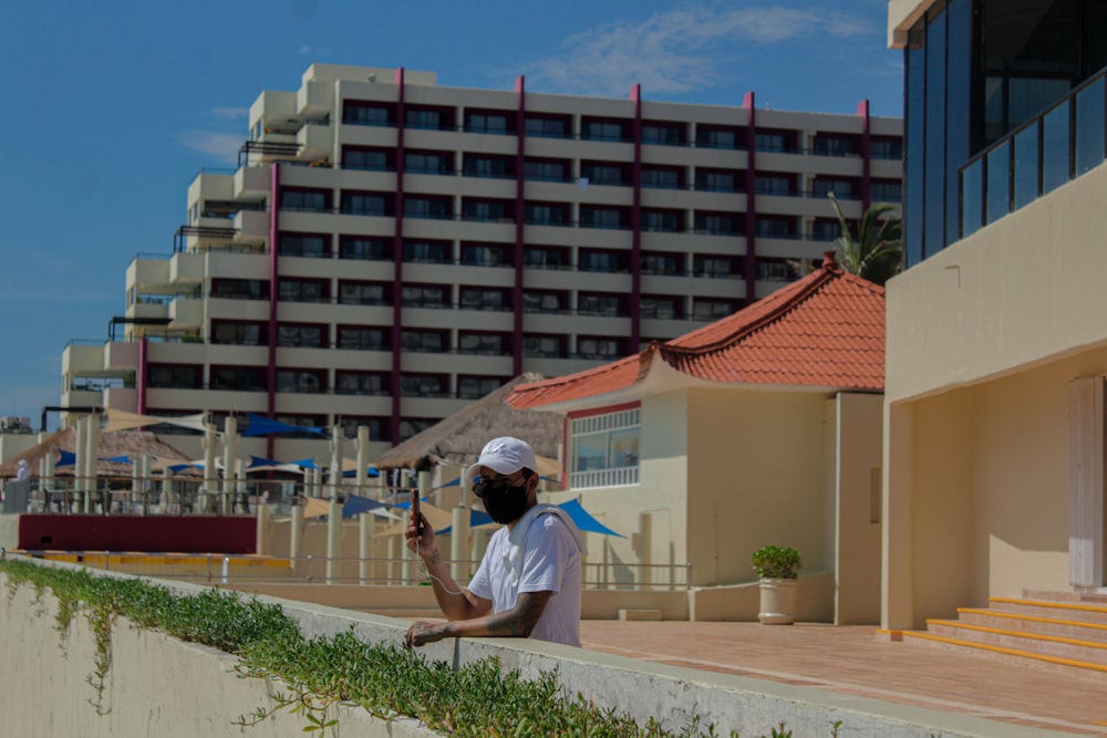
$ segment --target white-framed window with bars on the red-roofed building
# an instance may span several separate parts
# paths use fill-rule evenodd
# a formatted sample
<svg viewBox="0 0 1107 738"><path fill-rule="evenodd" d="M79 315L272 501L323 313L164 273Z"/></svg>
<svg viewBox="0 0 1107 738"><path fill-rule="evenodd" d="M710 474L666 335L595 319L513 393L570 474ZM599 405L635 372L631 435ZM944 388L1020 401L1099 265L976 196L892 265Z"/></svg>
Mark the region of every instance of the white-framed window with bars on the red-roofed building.
<svg viewBox="0 0 1107 738"><path fill-rule="evenodd" d="M569 482L572 489L638 484L641 409L569 422Z"/></svg>

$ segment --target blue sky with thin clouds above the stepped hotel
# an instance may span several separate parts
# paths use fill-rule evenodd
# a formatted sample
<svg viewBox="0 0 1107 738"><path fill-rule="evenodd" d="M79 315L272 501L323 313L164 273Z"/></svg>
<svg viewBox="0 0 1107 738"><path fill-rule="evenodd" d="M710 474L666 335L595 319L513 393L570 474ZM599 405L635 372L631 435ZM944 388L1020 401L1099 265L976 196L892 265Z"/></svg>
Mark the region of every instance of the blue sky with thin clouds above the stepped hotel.
<svg viewBox="0 0 1107 738"><path fill-rule="evenodd" d="M234 166L258 93L297 90L312 62L899 116L886 23L884 0L0 2L0 415L38 427L64 347L107 337L127 264L172 250L188 184Z"/></svg>

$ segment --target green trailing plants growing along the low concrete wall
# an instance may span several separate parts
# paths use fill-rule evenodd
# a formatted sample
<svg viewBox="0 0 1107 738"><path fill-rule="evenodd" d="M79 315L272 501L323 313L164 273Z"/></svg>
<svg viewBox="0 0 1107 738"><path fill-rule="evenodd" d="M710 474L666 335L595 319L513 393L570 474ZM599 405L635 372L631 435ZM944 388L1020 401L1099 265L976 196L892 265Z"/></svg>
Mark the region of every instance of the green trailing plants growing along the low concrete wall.
<svg viewBox="0 0 1107 738"><path fill-rule="evenodd" d="M362 707L385 720L416 718L438 732L462 737L718 735L713 725L702 729L699 716L679 732L663 729L654 718L638 725L580 694L568 697L556 673L528 680L518 672L504 672L496 659L455 669L444 662L427 662L399 644L364 643L352 630L308 640L280 606L234 592L210 589L194 596L177 595L145 580L94 576L84 570L13 559L0 560L0 571L8 576L9 596L24 584L35 589L37 602L46 590L53 594L59 603L55 630L60 635L68 634L79 613L85 615L96 641L93 674L87 678L95 696L89 701L99 715L110 710L103 697L112 666L111 634L115 620L123 616L139 627L238 656L237 671L242 678L267 678L272 685L283 685L287 692L270 688L271 706L234 721L241 726L260 723L277 710L291 710L307 721L304 731L337 729L332 708L343 705ZM738 738L737 732L730 735ZM782 724L772 735L786 738L792 731Z"/></svg>

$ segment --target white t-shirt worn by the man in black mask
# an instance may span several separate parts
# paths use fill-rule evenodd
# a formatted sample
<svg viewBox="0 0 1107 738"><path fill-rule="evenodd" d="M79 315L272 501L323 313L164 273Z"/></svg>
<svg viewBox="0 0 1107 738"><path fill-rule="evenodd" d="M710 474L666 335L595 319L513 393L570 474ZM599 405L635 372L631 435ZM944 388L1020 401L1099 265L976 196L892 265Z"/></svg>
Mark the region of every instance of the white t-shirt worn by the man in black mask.
<svg viewBox="0 0 1107 738"><path fill-rule="evenodd" d="M493 533L469 592L492 600L493 613L515 607L519 592L552 592L530 637L579 646L581 551L573 534L556 514L536 518L527 529L518 583L513 584L508 533L506 526Z"/></svg>

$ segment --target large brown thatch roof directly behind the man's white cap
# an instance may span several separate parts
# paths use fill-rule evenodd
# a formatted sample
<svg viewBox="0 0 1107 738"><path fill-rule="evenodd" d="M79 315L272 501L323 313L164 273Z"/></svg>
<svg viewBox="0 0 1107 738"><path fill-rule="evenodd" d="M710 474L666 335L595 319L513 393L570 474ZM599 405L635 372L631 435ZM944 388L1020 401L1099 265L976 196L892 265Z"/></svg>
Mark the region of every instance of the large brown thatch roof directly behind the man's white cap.
<svg viewBox="0 0 1107 738"><path fill-rule="evenodd" d="M541 374L534 372L520 374L499 389L385 451L376 460L376 467L421 469L435 464L466 466L476 461L484 445L498 436L521 438L538 456L556 459L565 415L549 410L520 410L504 402L516 385L541 378Z"/></svg>

